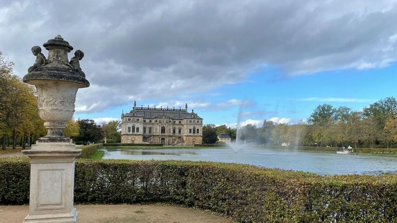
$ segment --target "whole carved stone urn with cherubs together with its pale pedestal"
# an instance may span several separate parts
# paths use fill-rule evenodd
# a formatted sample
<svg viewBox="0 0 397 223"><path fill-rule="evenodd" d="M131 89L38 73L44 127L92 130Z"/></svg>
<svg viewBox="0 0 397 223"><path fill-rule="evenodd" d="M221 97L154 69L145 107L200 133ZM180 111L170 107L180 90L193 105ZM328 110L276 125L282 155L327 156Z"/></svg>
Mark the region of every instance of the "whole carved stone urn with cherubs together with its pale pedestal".
<svg viewBox="0 0 397 223"><path fill-rule="evenodd" d="M23 77L23 82L36 86L38 113L47 129L32 149L22 151L31 159L29 215L24 222L78 222L73 186L75 159L81 150L63 135L63 129L75 112L78 89L89 86L79 63L84 53L77 50L69 61L67 54L73 48L60 35L43 47L48 57L34 46L36 61Z"/></svg>

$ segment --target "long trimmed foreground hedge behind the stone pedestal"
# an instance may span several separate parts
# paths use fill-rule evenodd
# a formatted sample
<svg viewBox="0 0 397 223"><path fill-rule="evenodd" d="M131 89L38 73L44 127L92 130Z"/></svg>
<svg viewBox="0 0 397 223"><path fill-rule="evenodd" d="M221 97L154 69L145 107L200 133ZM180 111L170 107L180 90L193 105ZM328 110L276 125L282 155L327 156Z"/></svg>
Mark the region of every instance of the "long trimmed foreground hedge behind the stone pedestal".
<svg viewBox="0 0 397 223"><path fill-rule="evenodd" d="M29 159L0 159L0 204L27 204ZM397 221L397 175L191 161L77 160L75 202L167 202L242 222Z"/></svg>

